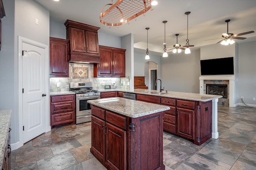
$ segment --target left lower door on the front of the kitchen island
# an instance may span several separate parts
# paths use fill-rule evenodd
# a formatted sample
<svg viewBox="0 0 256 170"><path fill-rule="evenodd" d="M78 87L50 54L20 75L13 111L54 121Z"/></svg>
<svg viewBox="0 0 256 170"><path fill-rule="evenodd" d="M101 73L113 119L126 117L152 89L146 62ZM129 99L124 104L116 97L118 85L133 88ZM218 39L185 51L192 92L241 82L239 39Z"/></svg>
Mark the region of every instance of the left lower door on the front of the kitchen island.
<svg viewBox="0 0 256 170"><path fill-rule="evenodd" d="M91 152L98 160L105 161L105 122L92 116Z"/></svg>

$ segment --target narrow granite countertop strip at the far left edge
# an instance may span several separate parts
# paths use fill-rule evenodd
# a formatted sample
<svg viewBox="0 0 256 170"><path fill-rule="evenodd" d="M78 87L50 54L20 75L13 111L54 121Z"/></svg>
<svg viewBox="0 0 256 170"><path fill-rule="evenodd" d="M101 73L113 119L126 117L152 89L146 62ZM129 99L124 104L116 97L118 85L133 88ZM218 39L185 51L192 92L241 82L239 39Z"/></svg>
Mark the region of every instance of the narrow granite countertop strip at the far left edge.
<svg viewBox="0 0 256 170"><path fill-rule="evenodd" d="M2 169L4 161L6 138L10 128L11 114L12 110L0 110L0 169Z"/></svg>

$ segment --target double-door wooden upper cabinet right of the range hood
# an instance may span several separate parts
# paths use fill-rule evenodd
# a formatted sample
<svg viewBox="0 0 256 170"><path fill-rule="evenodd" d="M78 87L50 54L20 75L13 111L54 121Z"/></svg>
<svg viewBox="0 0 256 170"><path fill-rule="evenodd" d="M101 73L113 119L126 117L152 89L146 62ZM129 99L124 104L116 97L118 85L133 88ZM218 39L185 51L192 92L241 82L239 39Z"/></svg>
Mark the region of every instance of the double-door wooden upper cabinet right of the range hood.
<svg viewBox="0 0 256 170"><path fill-rule="evenodd" d="M94 64L94 77L125 77L125 51L100 45L100 63Z"/></svg>

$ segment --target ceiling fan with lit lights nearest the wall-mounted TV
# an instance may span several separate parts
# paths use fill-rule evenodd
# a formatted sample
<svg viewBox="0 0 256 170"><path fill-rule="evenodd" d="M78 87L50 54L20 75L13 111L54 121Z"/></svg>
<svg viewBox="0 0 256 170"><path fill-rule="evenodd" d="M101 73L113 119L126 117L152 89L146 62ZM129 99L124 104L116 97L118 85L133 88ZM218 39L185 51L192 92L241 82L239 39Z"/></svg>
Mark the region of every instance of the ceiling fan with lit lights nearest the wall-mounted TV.
<svg viewBox="0 0 256 170"><path fill-rule="evenodd" d="M221 42L222 45L228 45L228 44L235 43L235 41L233 39L246 39L245 37L238 37L240 35L254 33L254 31L248 31L248 32L239 33L239 34L235 34L235 35L233 33L228 33L228 22L229 21L230 20L225 20L225 22L227 23L227 33L222 33L222 40L218 41L218 43ZM216 44L218 44L218 43L216 43Z"/></svg>

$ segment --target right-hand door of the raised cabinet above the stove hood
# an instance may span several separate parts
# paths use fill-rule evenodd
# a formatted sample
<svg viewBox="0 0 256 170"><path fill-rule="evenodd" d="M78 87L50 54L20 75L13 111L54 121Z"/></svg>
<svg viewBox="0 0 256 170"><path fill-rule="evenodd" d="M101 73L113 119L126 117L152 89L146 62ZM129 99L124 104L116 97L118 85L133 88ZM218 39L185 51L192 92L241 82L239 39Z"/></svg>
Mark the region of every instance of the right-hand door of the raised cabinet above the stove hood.
<svg viewBox="0 0 256 170"><path fill-rule="evenodd" d="M98 33L85 31L86 53L99 54Z"/></svg>

